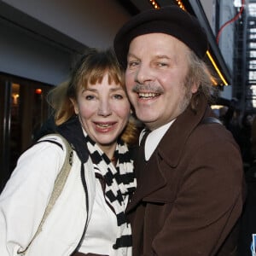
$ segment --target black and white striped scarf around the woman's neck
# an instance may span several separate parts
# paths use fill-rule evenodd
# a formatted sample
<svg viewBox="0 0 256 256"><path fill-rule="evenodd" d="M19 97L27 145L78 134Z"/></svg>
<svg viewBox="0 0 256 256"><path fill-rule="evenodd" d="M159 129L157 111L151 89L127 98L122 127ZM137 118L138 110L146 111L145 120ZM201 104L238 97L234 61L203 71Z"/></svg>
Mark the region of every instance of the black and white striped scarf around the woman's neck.
<svg viewBox="0 0 256 256"><path fill-rule="evenodd" d="M125 217L129 195L137 186L131 154L126 144L119 141L114 152L116 166L113 166L108 156L88 135L86 141L96 176L100 175L104 180L105 200L117 217L119 233L113 244L114 255L131 255L131 224Z"/></svg>

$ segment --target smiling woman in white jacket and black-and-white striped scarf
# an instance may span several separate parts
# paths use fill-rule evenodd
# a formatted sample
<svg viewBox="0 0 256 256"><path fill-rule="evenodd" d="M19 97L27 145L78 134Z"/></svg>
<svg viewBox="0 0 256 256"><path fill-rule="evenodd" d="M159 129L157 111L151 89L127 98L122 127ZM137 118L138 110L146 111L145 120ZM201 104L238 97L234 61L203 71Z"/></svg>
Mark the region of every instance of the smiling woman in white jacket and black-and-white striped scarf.
<svg viewBox="0 0 256 256"><path fill-rule="evenodd" d="M131 255L124 213L136 179L127 143L137 133L123 74L111 50L89 49L69 81L50 99L56 131L74 148L72 169L32 241L65 154L44 137L20 157L0 196L1 256Z"/></svg>

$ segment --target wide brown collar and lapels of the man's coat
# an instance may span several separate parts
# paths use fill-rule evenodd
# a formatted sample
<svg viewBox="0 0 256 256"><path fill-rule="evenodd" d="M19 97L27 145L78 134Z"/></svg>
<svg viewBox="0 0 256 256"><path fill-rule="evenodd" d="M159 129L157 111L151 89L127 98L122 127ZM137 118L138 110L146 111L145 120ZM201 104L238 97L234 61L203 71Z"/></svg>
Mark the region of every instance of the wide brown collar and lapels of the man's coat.
<svg viewBox="0 0 256 256"><path fill-rule="evenodd" d="M195 130L195 127L201 122L206 109L207 100L200 98L197 112L195 113L191 108L187 108L177 117L168 131L166 131L165 136L160 140L158 147L148 160L146 166L142 165L142 159L137 160L135 167L137 189L126 212L130 212L147 195L165 187L167 181L161 171L164 168L163 162L165 162L165 166L176 167L178 165L185 143L190 134ZM209 107L207 112L210 112Z"/></svg>

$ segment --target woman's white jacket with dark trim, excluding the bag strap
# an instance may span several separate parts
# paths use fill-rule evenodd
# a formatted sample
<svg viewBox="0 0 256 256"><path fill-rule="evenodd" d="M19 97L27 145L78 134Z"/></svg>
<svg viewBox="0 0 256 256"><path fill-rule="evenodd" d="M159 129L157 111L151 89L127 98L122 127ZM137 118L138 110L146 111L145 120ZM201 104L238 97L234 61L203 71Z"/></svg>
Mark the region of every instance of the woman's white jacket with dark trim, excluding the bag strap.
<svg viewBox="0 0 256 256"><path fill-rule="evenodd" d="M51 137L66 150L60 137ZM58 145L44 142L37 143L20 156L15 171L0 195L1 256L20 255L18 252L26 249L32 240L65 155L66 152ZM26 252L27 256L65 256L73 253L78 246L95 197L91 160L84 164L85 187L80 170L81 162L74 151L67 182L44 222L43 230ZM88 191L89 209L86 209L85 191Z"/></svg>

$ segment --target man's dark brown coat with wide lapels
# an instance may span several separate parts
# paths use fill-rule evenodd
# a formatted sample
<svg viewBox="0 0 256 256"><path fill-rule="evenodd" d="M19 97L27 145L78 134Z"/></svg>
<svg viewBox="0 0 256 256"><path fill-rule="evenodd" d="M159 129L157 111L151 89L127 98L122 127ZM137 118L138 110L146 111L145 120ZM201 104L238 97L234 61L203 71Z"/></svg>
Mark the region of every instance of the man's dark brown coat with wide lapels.
<svg viewBox="0 0 256 256"><path fill-rule="evenodd" d="M188 108L143 165L127 208L134 256L236 255L237 220L244 200L241 154L206 100Z"/></svg>

